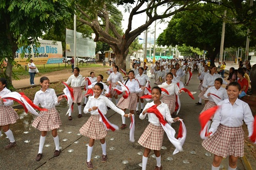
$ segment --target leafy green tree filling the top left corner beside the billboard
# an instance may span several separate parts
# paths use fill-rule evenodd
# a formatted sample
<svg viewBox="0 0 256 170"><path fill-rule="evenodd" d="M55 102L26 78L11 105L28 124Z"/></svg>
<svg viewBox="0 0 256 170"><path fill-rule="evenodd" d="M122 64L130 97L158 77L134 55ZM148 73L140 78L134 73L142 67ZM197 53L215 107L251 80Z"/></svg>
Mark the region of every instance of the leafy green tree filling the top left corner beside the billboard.
<svg viewBox="0 0 256 170"><path fill-rule="evenodd" d="M1 72L11 84L14 55L18 47L37 44L38 37L55 26L62 28L62 20L72 16L72 5L66 0L0 1L0 59L7 58L6 71Z"/></svg>

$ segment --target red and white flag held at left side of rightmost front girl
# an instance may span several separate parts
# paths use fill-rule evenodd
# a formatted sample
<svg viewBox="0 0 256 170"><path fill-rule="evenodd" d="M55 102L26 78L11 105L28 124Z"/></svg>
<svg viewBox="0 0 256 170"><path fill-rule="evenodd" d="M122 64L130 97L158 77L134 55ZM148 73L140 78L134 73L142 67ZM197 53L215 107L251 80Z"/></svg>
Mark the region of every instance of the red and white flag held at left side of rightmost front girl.
<svg viewBox="0 0 256 170"><path fill-rule="evenodd" d="M199 122L201 124L200 137L202 139L207 138L207 133L210 126L210 117L215 114L215 112L220 108L220 106L214 106L199 115Z"/></svg>

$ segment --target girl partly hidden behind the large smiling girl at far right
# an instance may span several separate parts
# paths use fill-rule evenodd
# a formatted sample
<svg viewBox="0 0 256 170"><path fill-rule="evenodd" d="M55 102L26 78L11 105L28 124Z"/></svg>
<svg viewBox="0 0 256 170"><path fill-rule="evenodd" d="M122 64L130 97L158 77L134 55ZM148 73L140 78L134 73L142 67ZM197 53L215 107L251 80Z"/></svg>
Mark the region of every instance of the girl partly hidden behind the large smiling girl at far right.
<svg viewBox="0 0 256 170"><path fill-rule="evenodd" d="M205 104L201 113L203 113L205 110L207 110L211 107L217 106L217 104L220 101L223 101L228 98L227 90L225 88L221 87L222 83L223 83L223 80L221 78L217 78L215 80L214 86L211 86L206 90L204 97L208 98L209 101ZM215 94L219 98L212 96L211 94ZM213 99L214 97L217 98L217 100L214 100ZM212 119L212 118L214 118L214 115L212 115L210 119Z"/></svg>

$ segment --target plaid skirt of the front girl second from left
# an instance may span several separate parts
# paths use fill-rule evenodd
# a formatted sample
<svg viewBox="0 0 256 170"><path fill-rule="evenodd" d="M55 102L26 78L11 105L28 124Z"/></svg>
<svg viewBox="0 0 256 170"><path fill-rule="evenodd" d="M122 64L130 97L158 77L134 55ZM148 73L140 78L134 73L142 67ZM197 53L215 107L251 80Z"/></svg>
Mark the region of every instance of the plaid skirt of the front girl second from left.
<svg viewBox="0 0 256 170"><path fill-rule="evenodd" d="M58 129L61 125L61 120L59 112L55 108L48 109L48 111L40 111L39 114L42 116L37 116L32 126L39 131L51 131L53 129Z"/></svg>

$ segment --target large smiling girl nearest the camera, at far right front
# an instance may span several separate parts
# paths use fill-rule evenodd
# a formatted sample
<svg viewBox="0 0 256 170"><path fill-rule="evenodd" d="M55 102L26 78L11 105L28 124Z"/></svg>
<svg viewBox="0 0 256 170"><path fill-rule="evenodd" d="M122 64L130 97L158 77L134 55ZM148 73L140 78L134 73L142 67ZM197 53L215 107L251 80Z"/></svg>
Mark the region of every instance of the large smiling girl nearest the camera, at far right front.
<svg viewBox="0 0 256 170"><path fill-rule="evenodd" d="M228 99L221 101L221 106L215 113L211 127L208 131L209 138L202 142L203 147L214 153L211 169L220 169L223 157L229 156L228 170L237 168L239 157L244 156L244 131L243 120L247 125L249 136L253 132L254 118L247 103L238 99L241 86L237 82L228 85ZM210 136L210 134L213 134Z"/></svg>

